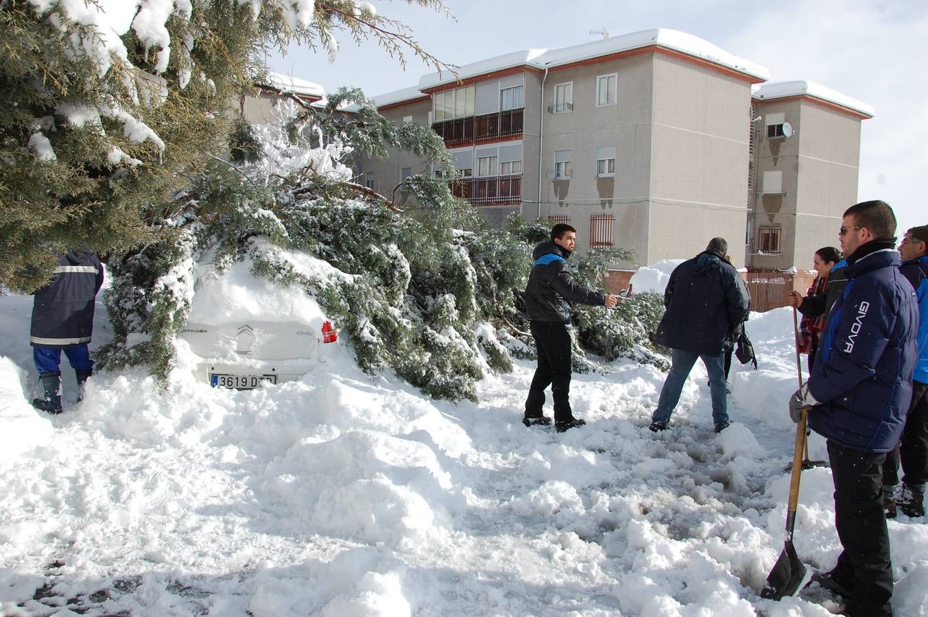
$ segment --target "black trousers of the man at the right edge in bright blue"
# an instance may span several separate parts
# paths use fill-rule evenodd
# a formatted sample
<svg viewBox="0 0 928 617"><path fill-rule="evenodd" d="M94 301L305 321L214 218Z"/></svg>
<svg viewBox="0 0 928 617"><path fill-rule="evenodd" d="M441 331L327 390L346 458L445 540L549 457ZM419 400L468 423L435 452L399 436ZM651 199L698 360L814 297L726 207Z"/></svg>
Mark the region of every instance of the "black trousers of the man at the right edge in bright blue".
<svg viewBox="0 0 928 617"><path fill-rule="evenodd" d="M912 403L906 428L896 449L886 455L883 463L883 484L899 483L899 463L902 482L920 486L928 482L928 383L912 381Z"/></svg>

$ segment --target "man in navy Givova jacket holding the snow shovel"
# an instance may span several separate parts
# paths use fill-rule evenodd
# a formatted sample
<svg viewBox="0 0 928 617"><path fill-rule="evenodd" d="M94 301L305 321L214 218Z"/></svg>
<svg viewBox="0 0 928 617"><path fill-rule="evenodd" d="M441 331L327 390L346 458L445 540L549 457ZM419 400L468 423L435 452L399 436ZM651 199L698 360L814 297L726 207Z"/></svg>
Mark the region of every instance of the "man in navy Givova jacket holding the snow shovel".
<svg viewBox="0 0 928 617"><path fill-rule="evenodd" d="M844 547L816 580L844 596L851 617L892 615L893 569L883 514L883 460L899 441L911 397L918 306L899 272L896 216L883 201L844 212L838 232L847 285L818 342L812 373L790 399L827 439L834 526Z"/></svg>

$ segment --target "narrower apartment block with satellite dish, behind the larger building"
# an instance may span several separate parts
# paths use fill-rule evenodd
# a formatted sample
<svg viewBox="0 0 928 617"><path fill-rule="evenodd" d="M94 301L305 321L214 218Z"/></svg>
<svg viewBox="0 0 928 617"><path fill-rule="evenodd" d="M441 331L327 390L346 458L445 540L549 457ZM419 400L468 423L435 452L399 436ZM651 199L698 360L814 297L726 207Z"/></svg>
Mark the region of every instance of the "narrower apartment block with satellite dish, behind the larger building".
<svg viewBox="0 0 928 617"><path fill-rule="evenodd" d="M873 109L801 81L761 84L752 102L747 263L811 268L857 201L860 122Z"/></svg>

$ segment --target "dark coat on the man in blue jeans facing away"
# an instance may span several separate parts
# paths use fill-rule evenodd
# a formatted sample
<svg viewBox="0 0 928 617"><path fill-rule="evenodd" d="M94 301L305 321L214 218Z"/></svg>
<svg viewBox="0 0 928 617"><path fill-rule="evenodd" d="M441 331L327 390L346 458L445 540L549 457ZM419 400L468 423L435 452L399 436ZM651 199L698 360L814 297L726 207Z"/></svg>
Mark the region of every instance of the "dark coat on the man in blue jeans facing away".
<svg viewBox="0 0 928 617"><path fill-rule="evenodd" d="M654 341L671 349L719 355L731 347L751 296L731 264L703 251L677 265L664 290L666 312Z"/></svg>

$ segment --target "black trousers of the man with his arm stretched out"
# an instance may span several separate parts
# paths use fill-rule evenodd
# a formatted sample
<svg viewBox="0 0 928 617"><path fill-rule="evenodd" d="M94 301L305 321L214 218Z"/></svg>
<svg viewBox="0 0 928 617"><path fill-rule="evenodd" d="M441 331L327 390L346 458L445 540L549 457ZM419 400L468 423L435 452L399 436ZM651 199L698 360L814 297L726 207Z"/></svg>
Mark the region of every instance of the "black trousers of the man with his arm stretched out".
<svg viewBox="0 0 928 617"><path fill-rule="evenodd" d="M551 386L554 399L554 421L569 422L571 413L571 333L565 324L533 321L530 324L535 347L538 348L538 367L525 399L526 418L541 416L545 405L545 389Z"/></svg>

